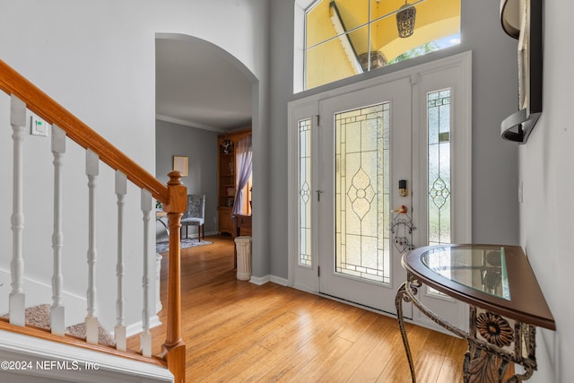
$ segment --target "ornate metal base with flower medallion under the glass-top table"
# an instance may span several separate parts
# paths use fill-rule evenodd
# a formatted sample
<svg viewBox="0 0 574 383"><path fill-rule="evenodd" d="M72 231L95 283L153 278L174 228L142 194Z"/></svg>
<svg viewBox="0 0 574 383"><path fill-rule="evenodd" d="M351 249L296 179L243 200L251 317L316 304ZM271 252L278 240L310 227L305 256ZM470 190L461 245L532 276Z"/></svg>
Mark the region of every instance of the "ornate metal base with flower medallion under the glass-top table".
<svg viewBox="0 0 574 383"><path fill-rule="evenodd" d="M439 326L451 333L464 338L468 342L468 351L463 363L465 383L502 383L509 363L517 363L524 367L524 374L515 374L505 381L514 383L529 379L536 370L535 334L536 327L504 318L499 314L485 309L470 306L468 331L452 326L430 309L422 305L416 298L422 287L412 275L409 281L403 283L396 292L396 314L398 325L403 337L404 351L411 369L413 383L416 382L413 355L409 347L404 329L403 301L413 302L413 305Z"/></svg>

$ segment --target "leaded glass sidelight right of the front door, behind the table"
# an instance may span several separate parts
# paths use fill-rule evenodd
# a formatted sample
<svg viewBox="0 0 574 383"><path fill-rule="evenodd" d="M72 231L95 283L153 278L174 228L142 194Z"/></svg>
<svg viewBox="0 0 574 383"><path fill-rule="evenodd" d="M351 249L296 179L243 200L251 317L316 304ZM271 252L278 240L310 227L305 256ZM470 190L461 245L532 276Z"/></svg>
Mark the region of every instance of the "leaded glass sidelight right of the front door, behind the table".
<svg viewBox="0 0 574 383"><path fill-rule="evenodd" d="M427 95L429 245L450 243L450 89Z"/></svg>

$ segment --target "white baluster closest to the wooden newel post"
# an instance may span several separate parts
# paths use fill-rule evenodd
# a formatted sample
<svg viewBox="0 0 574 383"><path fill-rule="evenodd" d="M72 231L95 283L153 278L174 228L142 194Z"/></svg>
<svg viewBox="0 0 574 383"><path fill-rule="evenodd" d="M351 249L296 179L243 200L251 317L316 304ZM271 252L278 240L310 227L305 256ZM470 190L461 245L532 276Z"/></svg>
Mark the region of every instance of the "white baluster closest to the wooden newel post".
<svg viewBox="0 0 574 383"><path fill-rule="evenodd" d="M150 243L150 215L152 213L152 194L142 189L143 213L143 309L142 334L140 335L141 352L143 356L152 356L152 333L150 332L150 276L149 276L149 248Z"/></svg>

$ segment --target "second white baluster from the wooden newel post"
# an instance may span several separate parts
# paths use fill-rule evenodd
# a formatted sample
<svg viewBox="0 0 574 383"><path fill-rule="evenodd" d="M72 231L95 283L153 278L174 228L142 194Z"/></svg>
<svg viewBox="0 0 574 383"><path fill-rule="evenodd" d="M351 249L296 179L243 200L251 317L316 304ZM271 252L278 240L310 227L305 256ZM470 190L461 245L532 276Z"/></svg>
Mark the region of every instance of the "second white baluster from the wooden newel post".
<svg viewBox="0 0 574 383"><path fill-rule="evenodd" d="M126 204L127 178L124 173L116 170L116 196L117 196L117 299L116 299L116 327L114 336L116 348L126 351L126 324L124 323L124 205Z"/></svg>

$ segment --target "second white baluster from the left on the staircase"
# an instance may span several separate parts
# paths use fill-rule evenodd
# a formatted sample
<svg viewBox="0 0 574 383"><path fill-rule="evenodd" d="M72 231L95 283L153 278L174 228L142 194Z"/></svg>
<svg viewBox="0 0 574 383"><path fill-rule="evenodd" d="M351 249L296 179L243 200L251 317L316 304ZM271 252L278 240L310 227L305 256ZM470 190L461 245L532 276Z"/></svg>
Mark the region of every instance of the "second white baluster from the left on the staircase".
<svg viewBox="0 0 574 383"><path fill-rule="evenodd" d="M65 132L58 126L52 126L52 154L54 155L54 231L52 249L54 250L54 271L52 274L52 307L50 308L50 327L52 334L65 333L65 309L62 304L62 176L61 170L65 153Z"/></svg>

